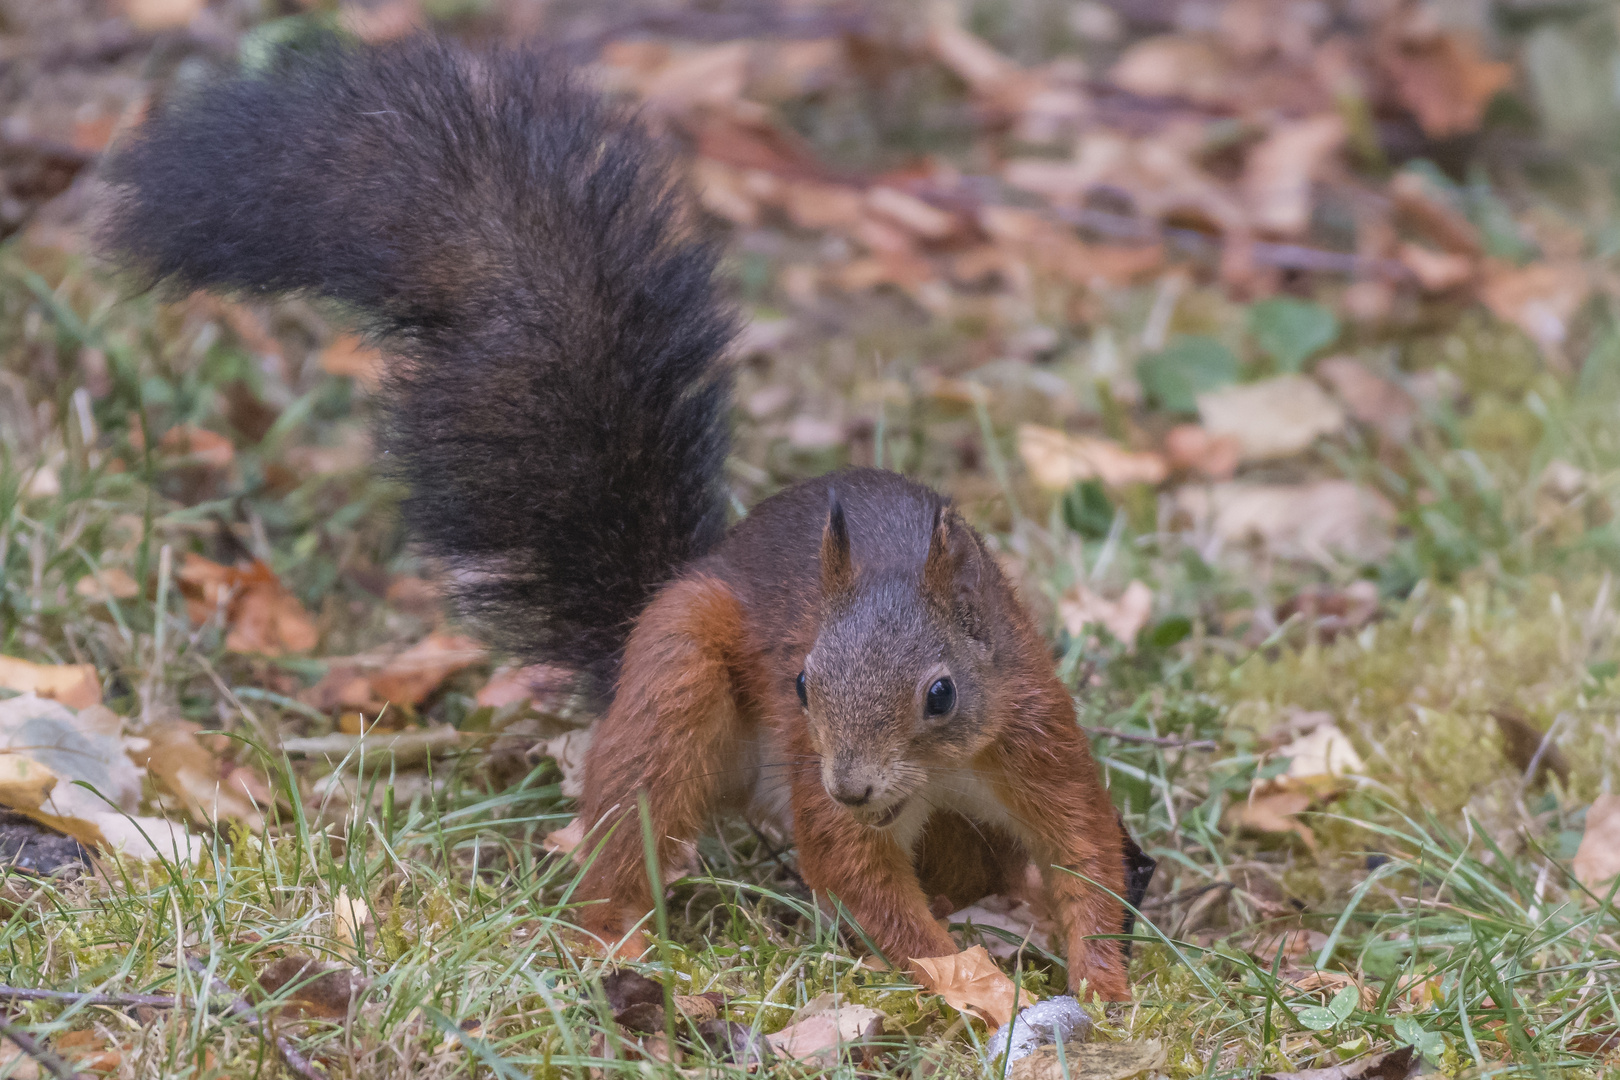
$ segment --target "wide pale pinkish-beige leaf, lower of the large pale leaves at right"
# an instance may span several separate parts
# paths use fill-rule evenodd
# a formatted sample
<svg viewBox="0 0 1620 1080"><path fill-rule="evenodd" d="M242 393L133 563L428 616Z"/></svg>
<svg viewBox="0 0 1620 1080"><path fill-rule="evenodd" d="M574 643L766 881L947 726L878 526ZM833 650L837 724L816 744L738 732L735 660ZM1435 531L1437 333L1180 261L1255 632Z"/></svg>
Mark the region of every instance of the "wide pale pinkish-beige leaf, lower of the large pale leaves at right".
<svg viewBox="0 0 1620 1080"><path fill-rule="evenodd" d="M1353 481L1183 487L1178 507L1228 544L1259 544L1273 557L1338 565L1374 562L1393 546L1395 507Z"/></svg>

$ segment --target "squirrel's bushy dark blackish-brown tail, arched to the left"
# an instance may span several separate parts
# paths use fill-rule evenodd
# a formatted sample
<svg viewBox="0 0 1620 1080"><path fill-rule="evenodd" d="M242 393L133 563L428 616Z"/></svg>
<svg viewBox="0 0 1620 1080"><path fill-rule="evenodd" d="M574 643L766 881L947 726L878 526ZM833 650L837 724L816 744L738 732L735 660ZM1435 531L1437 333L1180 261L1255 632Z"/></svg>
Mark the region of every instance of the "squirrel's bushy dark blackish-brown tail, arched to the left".
<svg viewBox="0 0 1620 1080"><path fill-rule="evenodd" d="M397 356L384 450L463 610L611 687L713 546L734 330L667 154L525 52L285 52L149 118L105 246L152 280L348 304Z"/></svg>

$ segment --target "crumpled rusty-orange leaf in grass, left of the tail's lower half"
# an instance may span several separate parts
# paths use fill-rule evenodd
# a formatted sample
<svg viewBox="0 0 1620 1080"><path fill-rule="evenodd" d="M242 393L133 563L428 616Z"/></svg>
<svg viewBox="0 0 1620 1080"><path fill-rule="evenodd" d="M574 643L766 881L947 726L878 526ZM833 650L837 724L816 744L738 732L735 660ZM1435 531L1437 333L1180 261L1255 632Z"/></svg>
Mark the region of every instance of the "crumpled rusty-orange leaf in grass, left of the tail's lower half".
<svg viewBox="0 0 1620 1080"><path fill-rule="evenodd" d="M186 552L175 575L191 622L225 609L225 648L232 653L308 653L321 635L296 596L262 562L225 567Z"/></svg>

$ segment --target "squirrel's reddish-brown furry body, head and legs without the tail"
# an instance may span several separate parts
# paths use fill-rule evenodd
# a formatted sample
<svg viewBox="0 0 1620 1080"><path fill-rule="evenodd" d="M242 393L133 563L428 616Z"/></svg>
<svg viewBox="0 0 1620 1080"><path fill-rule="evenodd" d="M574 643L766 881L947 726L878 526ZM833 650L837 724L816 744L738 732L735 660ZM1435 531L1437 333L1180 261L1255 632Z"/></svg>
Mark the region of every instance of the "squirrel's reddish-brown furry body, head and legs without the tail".
<svg viewBox="0 0 1620 1080"><path fill-rule="evenodd" d="M938 670L961 703L932 721L912 703ZM1124 837L1069 693L983 541L894 474L760 504L640 617L586 758L586 929L611 942L651 907L638 800L667 865L776 784L804 879L891 959L954 952L930 900L1001 891L1034 860L1071 988L1129 996L1119 944L1095 939L1121 929ZM834 798L862 784L893 826Z"/></svg>

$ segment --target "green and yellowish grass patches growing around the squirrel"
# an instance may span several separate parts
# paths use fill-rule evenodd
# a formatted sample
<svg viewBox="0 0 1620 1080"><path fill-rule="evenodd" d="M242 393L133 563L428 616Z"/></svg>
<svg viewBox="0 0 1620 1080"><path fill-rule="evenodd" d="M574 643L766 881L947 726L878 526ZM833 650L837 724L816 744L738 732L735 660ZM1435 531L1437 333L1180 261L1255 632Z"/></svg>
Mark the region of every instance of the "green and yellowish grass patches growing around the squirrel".
<svg viewBox="0 0 1620 1080"><path fill-rule="evenodd" d="M1019 32L1034 34L1040 19L1025 23ZM927 112L933 92L917 89L915 108ZM865 131L838 120L826 139ZM778 280L792 257L735 257L761 319L792 309ZM1610 301L1581 314L1571 337L1581 363L1565 374L1477 311L1437 304L1416 324L1353 330L1356 355L1443 372L1460 392L1427 403L1398 452L1351 432L1277 466L1278 479L1361 479L1398 510L1388 555L1324 570L1215 557L1163 529L1145 489L1105 495L1106 525L1074 529L1061 500L1022 479L1013 432L1025 419L1050 423L1053 381L1116 434L1137 423L1098 389L1097 368L1115 348L1134 358L1153 291L1097 300L1085 334L1059 338L1038 368L983 363L993 303L943 321L886 296L829 301L821 321L836 330L740 374L729 476L739 505L842 460L881 460L940 484L995 536L1053 627L1081 722L1187 743L1095 740L1116 805L1160 860L1134 944L1136 999L1095 1009L1098 1038L1162 1040L1178 1080L1320 1067L1398 1044L1421 1046L1447 1075L1612 1074L1601 1043L1620 1020L1620 918L1614 894L1594 895L1568 871L1584 808L1620 779L1610 576L1620 319ZM298 701L329 657L415 641L434 625L431 612L384 596L390 580L431 568L400 534L399 491L371 470L363 385L321 366L329 314L298 301L131 298L78 254L26 235L0 246L0 651L96 664L107 704L131 727L183 717L225 732L225 753L262 769L277 792L262 836L211 831L207 857L190 868L97 863L44 881L5 873L0 981L183 1002L13 1012L47 1041L100 1033L122 1048L120 1075L269 1077L280 1069L274 1052L219 1007L204 975L246 993L274 962L318 957L358 968L363 993L339 1015L284 1012L275 1025L332 1075L674 1074L630 1059L601 962L569 944L578 871L539 842L572 818L572 800L551 761L528 764L512 753L517 735L499 738L502 724L525 717L476 706L488 667L454 677L407 716L491 730L428 771L293 763L272 750L332 729ZM1244 309L1194 287L1174 319L1174 330L1241 342ZM930 393L923 368L993 387L988 403ZM755 415L747 403L773 387L789 389L789 405ZM795 445L789 413L850 421L852 447ZM227 436L230 468L164 452L177 424ZM1549 495L1554 460L1581 470L1578 494ZM314 614L319 651L227 651L217 617L186 614L172 578L185 552L267 562ZM139 593L87 594L83 583L109 570L126 572ZM1113 589L1137 578L1157 604L1134 651L1056 630L1051 607L1072 583ZM1353 580L1379 585L1375 622L1336 636L1268 622L1299 588ZM1502 708L1555 732L1568 780L1526 782L1498 746L1490 712ZM1257 777L1277 772L1267 740L1296 711L1333 714L1369 772L1307 819L1314 850L1243 834L1226 816ZM700 855L703 873L674 886L638 970L674 993L719 991L727 1015L757 1031L779 1030L836 989L889 1017L888 1052L859 1072L983 1075L982 1027L863 962L849 928L810 900L791 855L740 823ZM358 941L339 918L340 897L363 899L371 913ZM1314 968L1332 976L1306 978ZM1017 978L1030 994L1058 993L1061 959L1025 952ZM697 1044L679 1070L740 1072ZM847 1077L855 1067L778 1072Z"/></svg>

